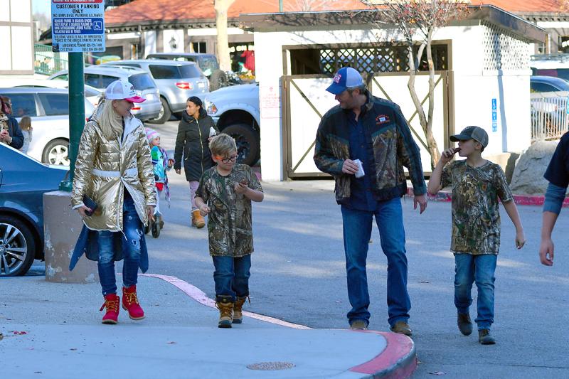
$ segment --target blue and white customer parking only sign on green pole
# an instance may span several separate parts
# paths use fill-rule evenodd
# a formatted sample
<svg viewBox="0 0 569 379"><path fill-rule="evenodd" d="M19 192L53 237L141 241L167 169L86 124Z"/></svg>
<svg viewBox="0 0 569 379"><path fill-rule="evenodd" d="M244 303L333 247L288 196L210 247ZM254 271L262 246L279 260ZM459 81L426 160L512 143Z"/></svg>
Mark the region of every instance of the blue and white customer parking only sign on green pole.
<svg viewBox="0 0 569 379"><path fill-rule="evenodd" d="M52 49L105 51L104 0L51 0Z"/></svg>

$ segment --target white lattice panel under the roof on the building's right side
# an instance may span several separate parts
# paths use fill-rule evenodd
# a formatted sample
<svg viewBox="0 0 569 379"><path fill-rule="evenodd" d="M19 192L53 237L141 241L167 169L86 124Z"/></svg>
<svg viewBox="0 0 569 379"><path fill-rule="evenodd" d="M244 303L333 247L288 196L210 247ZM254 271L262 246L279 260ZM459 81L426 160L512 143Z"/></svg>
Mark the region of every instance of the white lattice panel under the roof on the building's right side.
<svg viewBox="0 0 569 379"><path fill-rule="evenodd" d="M484 27L484 70L529 70L529 41L491 23Z"/></svg>

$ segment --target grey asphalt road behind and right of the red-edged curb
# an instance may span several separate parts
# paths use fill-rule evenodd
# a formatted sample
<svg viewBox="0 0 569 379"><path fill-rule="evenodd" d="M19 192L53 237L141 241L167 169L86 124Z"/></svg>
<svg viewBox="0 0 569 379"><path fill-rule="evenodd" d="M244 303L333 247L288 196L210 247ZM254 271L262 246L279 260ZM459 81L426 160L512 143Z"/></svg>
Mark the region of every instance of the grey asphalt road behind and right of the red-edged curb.
<svg viewBox="0 0 569 379"><path fill-rule="evenodd" d="M152 125L171 151L177 122ZM213 264L206 228L190 228L185 177L171 171L171 208L159 238L148 237L149 272L196 285L213 297ZM346 292L341 213L331 181L262 183L265 201L253 206L255 252L247 309L313 328L346 328ZM541 209L519 207L526 230L523 250L514 248L514 227L502 213L502 247L496 269L495 346L457 330L453 303L454 259L450 203L430 202L426 213L403 199L409 261L408 289L420 365L414 378L569 378L569 210L554 233L553 267L538 262ZM386 260L373 230L368 254L371 329L388 330ZM474 304L476 292L473 291ZM144 299L142 299L144 301ZM471 309L472 319L476 314Z"/></svg>

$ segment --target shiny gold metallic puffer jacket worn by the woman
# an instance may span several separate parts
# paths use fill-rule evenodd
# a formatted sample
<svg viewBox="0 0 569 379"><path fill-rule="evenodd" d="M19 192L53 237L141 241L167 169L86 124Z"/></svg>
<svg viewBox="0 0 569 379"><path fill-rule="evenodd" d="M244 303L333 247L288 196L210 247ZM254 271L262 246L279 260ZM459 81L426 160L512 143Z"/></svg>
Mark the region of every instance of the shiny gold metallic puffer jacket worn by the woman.
<svg viewBox="0 0 569 379"><path fill-rule="evenodd" d="M125 187L134 200L140 220L147 225L147 205L156 205L156 192L142 122L133 116L124 117L122 142L108 140L102 134L98 112L95 112L85 125L79 143L71 199L73 209L83 205L83 194L86 194L98 205L92 216L83 218L87 228L122 230Z"/></svg>

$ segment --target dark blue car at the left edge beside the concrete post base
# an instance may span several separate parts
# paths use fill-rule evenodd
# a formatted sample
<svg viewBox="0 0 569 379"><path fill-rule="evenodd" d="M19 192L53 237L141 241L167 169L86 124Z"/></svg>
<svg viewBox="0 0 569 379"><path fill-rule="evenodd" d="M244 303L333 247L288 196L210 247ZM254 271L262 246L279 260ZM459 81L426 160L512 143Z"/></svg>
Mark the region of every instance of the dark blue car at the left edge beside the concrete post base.
<svg viewBox="0 0 569 379"><path fill-rule="evenodd" d="M0 144L0 277L23 275L43 260L43 193L69 171Z"/></svg>

